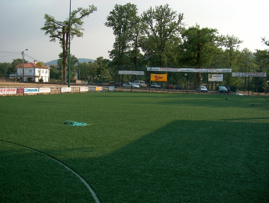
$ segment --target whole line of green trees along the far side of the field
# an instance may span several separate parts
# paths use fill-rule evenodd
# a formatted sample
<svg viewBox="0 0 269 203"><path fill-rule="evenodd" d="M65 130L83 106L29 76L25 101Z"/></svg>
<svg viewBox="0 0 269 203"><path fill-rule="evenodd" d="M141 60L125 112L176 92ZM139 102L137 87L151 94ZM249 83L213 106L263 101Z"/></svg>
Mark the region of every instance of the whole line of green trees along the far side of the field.
<svg viewBox="0 0 269 203"><path fill-rule="evenodd" d="M63 78L66 78L68 37L70 35L72 39L74 36L83 36L83 19L95 11L97 8L94 5L74 10L71 13L70 33L69 19L57 21L53 16L45 14L45 23L41 30L45 31L50 41L59 40L63 50L59 54L58 68L52 67L50 71L51 78L59 78L62 72ZM168 4L150 7L141 15L138 15L135 4L116 4L104 25L111 27L115 36L113 48L109 50L110 59L98 57L94 63L78 64L76 57L71 55L71 76L77 74L83 80L96 79L96 76L98 79L114 79L115 71L130 68L141 71L146 66L232 68L233 72L268 73L269 70L269 49L252 52L243 48L240 51L243 40L234 35L220 35L217 28L200 27L198 24L187 28L183 13L173 10ZM261 41L269 45L265 37ZM0 64L0 77L7 76L7 72L12 69L6 67L8 64ZM146 72L142 79L148 81L148 74L150 73ZM171 73L170 78L175 84L181 83L184 75ZM207 79L202 73L196 73L188 79L200 85L201 78L204 78L203 81ZM120 80L131 80L131 76L120 75ZM260 88L264 79L250 80L256 88ZM246 78L230 77L229 85L246 88Z"/></svg>

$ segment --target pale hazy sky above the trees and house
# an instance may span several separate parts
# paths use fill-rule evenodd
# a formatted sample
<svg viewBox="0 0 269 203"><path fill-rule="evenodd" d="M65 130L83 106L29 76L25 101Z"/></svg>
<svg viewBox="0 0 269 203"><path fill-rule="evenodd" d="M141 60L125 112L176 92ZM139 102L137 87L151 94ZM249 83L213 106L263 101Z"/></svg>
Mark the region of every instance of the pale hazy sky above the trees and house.
<svg viewBox="0 0 269 203"><path fill-rule="evenodd" d="M269 39L268 8L266 0L71 0L71 11L88 5L97 7L97 11L84 19L83 37L74 37L70 45L70 53L77 58L109 59L108 51L113 48L115 36L110 27L104 23L115 4L126 3L137 5L138 14L151 7L165 5L178 13L184 14L185 27L194 26L215 28L219 34L229 34L243 40L239 50L248 48L264 50L261 38ZM12 62L22 58L24 51L28 56L25 60L48 62L58 59L62 52L59 41L51 42L40 28L44 26L44 15L54 16L58 21L69 19L69 0L1 0L0 1L0 62ZM2 52L11 52L2 53ZM14 55L13 54L17 54ZM19 53L16 53L19 52Z"/></svg>

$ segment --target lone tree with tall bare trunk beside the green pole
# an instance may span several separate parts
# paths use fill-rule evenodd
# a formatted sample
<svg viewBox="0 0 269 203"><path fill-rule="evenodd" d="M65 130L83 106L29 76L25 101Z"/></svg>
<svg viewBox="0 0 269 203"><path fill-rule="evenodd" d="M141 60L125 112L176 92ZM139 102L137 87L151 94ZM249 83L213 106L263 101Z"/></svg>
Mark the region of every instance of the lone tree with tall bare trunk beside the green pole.
<svg viewBox="0 0 269 203"><path fill-rule="evenodd" d="M61 47L63 49L63 78L66 78L66 66L68 62L68 43L69 43L69 34L70 40L74 36L82 37L83 33L83 19L88 17L91 13L96 11L97 8L94 5L89 5L89 8L77 8L71 12L71 21L70 21L70 33L69 33L69 18L65 21L55 20L53 16L45 14L45 24L41 30L45 30L45 35L48 35L50 41L55 42L56 39L59 40ZM63 81L66 83L66 80Z"/></svg>

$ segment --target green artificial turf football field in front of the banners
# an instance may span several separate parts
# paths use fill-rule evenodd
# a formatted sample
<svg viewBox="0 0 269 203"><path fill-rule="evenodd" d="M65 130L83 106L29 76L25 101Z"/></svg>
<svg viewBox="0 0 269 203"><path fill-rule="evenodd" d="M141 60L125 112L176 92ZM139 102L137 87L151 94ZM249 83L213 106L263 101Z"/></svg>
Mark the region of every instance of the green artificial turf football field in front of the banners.
<svg viewBox="0 0 269 203"><path fill-rule="evenodd" d="M94 202L31 149L82 176L100 202L269 201L268 97L98 92L0 103L0 202ZM66 120L93 125L52 124Z"/></svg>

